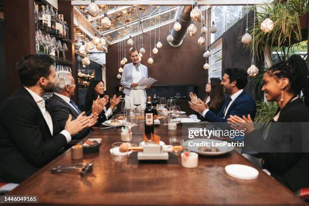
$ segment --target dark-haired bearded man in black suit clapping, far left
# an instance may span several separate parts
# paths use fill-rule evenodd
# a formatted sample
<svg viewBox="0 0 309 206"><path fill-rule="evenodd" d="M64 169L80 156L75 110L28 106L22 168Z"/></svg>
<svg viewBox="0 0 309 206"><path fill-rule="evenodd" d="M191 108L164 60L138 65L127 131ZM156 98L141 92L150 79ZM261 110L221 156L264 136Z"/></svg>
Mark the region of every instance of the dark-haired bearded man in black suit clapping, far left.
<svg viewBox="0 0 309 206"><path fill-rule="evenodd" d="M53 91L54 64L47 55L28 55L17 65L22 86L0 108L0 182L24 181L97 120L97 114L82 113L73 121L70 115L65 129L59 129L42 98Z"/></svg>

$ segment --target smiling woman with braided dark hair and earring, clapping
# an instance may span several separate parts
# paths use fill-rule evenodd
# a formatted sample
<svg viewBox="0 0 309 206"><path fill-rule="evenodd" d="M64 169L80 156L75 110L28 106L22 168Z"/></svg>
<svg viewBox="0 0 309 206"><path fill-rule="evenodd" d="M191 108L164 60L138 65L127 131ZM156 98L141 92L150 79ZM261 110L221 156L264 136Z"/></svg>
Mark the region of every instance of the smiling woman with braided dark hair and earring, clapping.
<svg viewBox="0 0 309 206"><path fill-rule="evenodd" d="M279 108L267 138L263 129L256 130L250 115L230 116L228 123L246 133L245 147L258 151L263 168L292 191L309 187L309 73L306 62L298 55L269 68L263 76L262 91L268 101ZM303 93L304 102L298 96ZM248 149L248 147L250 149Z"/></svg>

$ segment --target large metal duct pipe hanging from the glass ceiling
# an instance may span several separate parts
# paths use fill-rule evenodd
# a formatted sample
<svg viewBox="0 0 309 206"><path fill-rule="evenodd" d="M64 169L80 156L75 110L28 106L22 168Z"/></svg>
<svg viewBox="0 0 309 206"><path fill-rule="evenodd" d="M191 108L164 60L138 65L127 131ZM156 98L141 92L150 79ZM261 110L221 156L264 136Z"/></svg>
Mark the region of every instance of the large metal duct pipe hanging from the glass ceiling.
<svg viewBox="0 0 309 206"><path fill-rule="evenodd" d="M176 19L178 19L179 24L181 25L181 29L179 31L175 31L174 28L171 32L174 40L169 42L171 46L177 47L182 44L182 41L186 35L187 28L190 26L191 17L190 13L192 11L192 6L182 6L179 7Z"/></svg>

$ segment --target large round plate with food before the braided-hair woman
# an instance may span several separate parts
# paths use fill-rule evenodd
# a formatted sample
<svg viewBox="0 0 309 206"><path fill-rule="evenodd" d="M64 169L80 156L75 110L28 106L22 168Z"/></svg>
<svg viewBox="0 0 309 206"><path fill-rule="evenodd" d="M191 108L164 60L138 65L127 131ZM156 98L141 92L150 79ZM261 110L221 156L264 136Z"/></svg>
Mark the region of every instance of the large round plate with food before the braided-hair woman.
<svg viewBox="0 0 309 206"><path fill-rule="evenodd" d="M183 143L183 145L187 146L187 148L190 151L194 151L194 152L198 153L199 155L203 155L203 156L224 155L225 153L228 153L228 152L230 152L230 151L232 151L234 149L233 146L215 146L215 147L217 147L219 149L219 151L217 151L217 152L202 151L202 150L198 149L200 146L189 146L189 142L192 142L192 143L190 143L190 145L193 145L193 143L209 142L209 145L212 146L213 143L214 144L216 144L216 143L221 143L222 144L223 141L220 141L220 140L217 140L217 139L189 139L189 140L187 140L187 141L185 141ZM205 143L205 145L206 145L206 143ZM210 146L205 146L205 147L210 149Z"/></svg>

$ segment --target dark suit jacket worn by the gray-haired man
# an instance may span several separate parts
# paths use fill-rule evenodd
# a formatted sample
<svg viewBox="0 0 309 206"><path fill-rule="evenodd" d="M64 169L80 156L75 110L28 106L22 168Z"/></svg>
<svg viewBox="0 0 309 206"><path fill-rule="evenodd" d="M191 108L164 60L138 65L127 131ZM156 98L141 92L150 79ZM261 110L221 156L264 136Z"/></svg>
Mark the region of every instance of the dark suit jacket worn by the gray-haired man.
<svg viewBox="0 0 309 206"><path fill-rule="evenodd" d="M76 119L79 114L60 96L53 94L52 97L48 99L48 108L49 111L53 113L53 116L59 124L60 130L64 130L66 122L69 118L69 114L72 115L72 120ZM91 111L87 112L86 115L90 115ZM73 136L73 139L81 139L87 136L90 133L90 128L85 128L80 131L78 134Z"/></svg>

